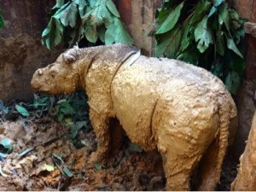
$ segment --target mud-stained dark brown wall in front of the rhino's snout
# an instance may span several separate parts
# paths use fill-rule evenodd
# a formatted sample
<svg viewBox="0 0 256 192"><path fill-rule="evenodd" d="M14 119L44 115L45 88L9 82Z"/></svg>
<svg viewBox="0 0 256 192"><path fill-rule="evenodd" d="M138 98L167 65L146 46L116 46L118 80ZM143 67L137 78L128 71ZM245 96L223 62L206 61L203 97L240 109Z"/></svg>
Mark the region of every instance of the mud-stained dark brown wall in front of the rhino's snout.
<svg viewBox="0 0 256 192"><path fill-rule="evenodd" d="M40 42L47 14L55 0L0 1L5 26L0 30L0 100L32 99L30 80L38 67L54 61L60 49Z"/></svg>

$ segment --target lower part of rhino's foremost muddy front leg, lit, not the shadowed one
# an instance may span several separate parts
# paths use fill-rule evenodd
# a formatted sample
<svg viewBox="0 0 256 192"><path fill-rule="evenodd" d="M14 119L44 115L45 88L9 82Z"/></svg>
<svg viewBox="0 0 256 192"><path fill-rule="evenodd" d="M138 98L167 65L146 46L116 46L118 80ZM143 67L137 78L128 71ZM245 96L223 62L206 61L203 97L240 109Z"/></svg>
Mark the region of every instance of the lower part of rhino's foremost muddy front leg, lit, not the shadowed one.
<svg viewBox="0 0 256 192"><path fill-rule="evenodd" d="M96 133L97 149L90 156L90 163L100 162L108 156L110 144L109 118L90 109L91 125Z"/></svg>

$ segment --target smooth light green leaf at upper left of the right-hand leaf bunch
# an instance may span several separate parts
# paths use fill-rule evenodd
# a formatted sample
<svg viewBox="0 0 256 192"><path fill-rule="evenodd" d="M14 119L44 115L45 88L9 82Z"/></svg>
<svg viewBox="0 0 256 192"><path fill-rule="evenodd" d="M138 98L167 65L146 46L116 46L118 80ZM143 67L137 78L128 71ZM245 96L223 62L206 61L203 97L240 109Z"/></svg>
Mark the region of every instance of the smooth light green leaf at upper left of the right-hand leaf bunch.
<svg viewBox="0 0 256 192"><path fill-rule="evenodd" d="M172 9L170 15L166 18L165 22L157 27L156 34L169 32L177 24L177 20L180 16L181 9L183 9L184 3L180 3L177 8Z"/></svg>

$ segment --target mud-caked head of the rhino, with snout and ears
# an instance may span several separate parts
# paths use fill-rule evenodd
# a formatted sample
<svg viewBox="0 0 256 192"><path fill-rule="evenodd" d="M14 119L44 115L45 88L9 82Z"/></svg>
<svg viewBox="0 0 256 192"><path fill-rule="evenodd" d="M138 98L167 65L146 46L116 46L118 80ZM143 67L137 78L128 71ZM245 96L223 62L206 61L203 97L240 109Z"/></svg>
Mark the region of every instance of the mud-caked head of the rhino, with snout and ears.
<svg viewBox="0 0 256 192"><path fill-rule="evenodd" d="M62 53L57 60L39 68L32 77L32 89L50 95L71 93L78 88L79 48L74 47Z"/></svg>

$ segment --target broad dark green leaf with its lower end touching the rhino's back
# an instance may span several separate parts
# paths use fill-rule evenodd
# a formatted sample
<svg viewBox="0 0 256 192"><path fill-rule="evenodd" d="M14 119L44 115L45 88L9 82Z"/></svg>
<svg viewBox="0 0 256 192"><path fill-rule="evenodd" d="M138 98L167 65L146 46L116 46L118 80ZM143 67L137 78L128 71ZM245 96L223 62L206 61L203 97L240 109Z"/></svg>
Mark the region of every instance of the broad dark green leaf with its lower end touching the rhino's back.
<svg viewBox="0 0 256 192"><path fill-rule="evenodd" d="M162 54L169 58L174 58L177 55L181 42L181 29L176 27L171 32L166 32L162 35L160 42L155 47L155 55Z"/></svg>

